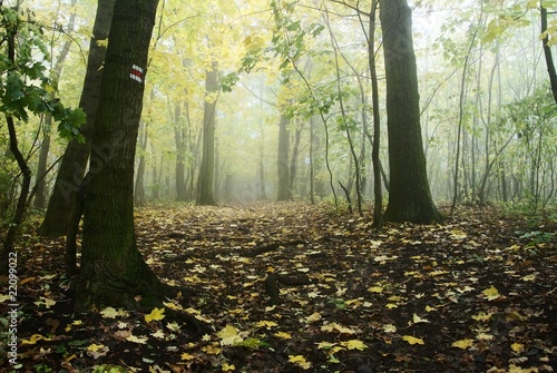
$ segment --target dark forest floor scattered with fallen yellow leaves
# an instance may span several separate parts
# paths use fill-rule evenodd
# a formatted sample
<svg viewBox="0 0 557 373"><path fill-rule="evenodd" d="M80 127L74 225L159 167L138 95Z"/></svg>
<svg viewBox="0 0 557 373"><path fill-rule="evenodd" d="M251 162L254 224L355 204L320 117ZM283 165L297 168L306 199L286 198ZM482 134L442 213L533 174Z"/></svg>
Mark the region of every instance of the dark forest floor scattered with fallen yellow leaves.
<svg viewBox="0 0 557 373"><path fill-rule="evenodd" d="M389 224L305 204L138 209L159 278L197 295L150 313L72 311L63 239L22 235L17 364L1 372L553 372L557 226L462 209ZM1 279L2 292L7 287ZM13 303L0 295L0 321ZM212 333L165 315L184 308ZM13 363L13 362L12 362Z"/></svg>

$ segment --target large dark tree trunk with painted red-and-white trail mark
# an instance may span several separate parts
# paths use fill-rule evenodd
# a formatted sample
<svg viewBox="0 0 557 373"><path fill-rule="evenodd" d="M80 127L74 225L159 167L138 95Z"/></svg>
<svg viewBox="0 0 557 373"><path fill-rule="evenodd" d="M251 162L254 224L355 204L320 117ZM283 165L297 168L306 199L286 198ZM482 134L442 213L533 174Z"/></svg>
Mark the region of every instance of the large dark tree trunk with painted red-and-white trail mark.
<svg viewBox="0 0 557 373"><path fill-rule="evenodd" d="M134 232L134 158L157 1L117 0L85 187L76 310L158 303L164 286L139 254ZM140 301L139 301L140 300Z"/></svg>

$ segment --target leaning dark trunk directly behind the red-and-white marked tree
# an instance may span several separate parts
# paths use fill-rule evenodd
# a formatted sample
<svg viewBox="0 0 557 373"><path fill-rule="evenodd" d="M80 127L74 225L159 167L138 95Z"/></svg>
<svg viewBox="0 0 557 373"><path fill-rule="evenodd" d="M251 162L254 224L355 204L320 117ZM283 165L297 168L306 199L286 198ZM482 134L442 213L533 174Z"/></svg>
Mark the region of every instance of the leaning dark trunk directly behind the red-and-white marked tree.
<svg viewBox="0 0 557 373"><path fill-rule="evenodd" d="M48 203L45 220L39 228L39 234L45 236L63 236L70 225L76 205L76 194L79 190L87 167L91 144L90 137L100 95L100 79L104 71L102 63L105 62L106 47L100 46L98 42L108 39L115 1L98 1L92 38L89 42L87 72L79 101L79 107L87 114L87 124L80 128L86 143L81 144L74 139L66 148L52 196Z"/></svg>

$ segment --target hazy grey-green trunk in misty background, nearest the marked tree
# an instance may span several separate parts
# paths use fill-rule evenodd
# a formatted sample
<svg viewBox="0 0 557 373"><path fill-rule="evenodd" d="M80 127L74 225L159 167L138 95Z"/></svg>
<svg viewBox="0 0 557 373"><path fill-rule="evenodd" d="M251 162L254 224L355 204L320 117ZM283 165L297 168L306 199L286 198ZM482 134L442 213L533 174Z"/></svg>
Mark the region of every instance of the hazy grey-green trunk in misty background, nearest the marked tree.
<svg viewBox="0 0 557 373"><path fill-rule="evenodd" d="M218 89L216 62L205 76L205 108L203 114L203 156L199 168L197 205L215 205L215 121Z"/></svg>

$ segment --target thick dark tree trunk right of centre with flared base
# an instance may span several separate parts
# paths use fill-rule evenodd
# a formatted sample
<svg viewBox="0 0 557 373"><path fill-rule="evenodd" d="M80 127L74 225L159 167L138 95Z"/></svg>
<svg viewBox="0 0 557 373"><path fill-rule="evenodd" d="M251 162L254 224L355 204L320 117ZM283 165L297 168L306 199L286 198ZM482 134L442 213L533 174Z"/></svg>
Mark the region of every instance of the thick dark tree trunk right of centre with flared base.
<svg viewBox="0 0 557 373"><path fill-rule="evenodd" d="M390 190L385 219L441 219L431 199L420 126L420 97L407 0L381 0L380 19L387 79Z"/></svg>

